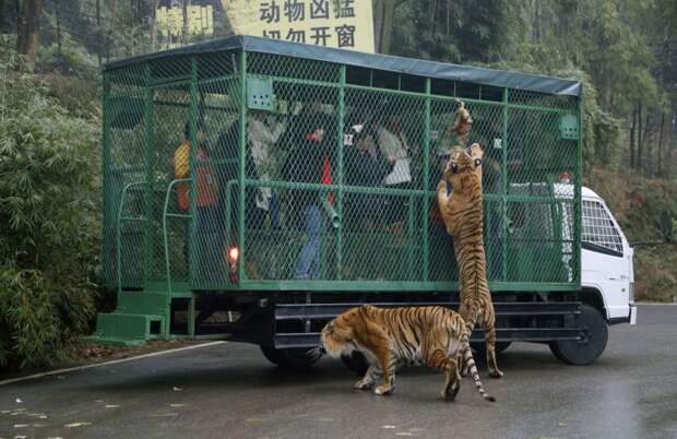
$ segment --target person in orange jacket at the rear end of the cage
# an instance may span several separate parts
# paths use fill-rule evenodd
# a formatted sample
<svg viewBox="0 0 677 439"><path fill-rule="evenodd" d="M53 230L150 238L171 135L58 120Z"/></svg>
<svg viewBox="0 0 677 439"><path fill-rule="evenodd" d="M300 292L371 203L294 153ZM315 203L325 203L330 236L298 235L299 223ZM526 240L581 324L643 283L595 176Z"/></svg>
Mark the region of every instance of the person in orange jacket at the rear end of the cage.
<svg viewBox="0 0 677 439"><path fill-rule="evenodd" d="M190 207L190 188L197 192L195 203L195 234L191 239L187 233L187 242L190 246L195 242L195 252L198 253L198 269L206 275L211 270L217 269L214 264L219 261L219 246L215 239L215 230L218 226L218 183L216 180L216 171L212 165L206 147L206 135L203 121L199 121L194 138L198 142L195 149L195 162L192 185L188 182L179 182L176 186L177 204L179 210L189 211ZM175 150L174 153L174 177L176 179L191 178L190 176L190 155L191 155L191 135L190 122L183 128L183 141ZM190 230L187 222L187 229ZM189 253L186 246L186 253ZM187 260L189 259L186 254Z"/></svg>

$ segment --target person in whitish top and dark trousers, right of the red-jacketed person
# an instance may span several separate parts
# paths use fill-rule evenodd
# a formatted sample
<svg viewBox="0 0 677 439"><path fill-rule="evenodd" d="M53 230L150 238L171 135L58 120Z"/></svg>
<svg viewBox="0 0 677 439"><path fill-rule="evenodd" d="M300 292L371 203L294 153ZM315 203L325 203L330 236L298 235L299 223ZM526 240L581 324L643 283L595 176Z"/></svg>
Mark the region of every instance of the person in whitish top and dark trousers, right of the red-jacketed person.
<svg viewBox="0 0 677 439"><path fill-rule="evenodd" d="M383 178L387 188L409 189L412 173L409 169L409 144L407 142L400 116L390 109L377 129L379 151L393 165L392 170ZM407 198L387 198L387 218L399 234L406 218Z"/></svg>

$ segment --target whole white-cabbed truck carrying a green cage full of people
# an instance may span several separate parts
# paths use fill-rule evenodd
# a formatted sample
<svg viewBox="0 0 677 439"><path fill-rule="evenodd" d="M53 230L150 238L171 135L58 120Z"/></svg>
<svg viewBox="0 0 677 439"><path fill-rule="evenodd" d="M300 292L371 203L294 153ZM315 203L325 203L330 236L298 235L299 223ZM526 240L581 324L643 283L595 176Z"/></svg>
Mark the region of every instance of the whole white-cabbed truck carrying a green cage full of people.
<svg viewBox="0 0 677 439"><path fill-rule="evenodd" d="M577 81L233 36L109 63L103 88L117 308L90 342L223 339L305 367L349 307L458 306L435 188L461 100L501 347L590 364L636 321L632 249L581 185Z"/></svg>

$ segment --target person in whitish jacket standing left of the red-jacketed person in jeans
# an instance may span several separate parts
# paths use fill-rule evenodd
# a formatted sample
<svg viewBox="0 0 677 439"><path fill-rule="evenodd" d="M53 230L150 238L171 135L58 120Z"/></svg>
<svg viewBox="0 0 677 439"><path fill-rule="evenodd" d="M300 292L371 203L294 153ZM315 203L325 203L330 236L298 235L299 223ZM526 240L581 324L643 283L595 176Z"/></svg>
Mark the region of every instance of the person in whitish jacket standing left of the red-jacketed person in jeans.
<svg viewBox="0 0 677 439"><path fill-rule="evenodd" d="M252 111L247 123L247 141L251 158L257 167L257 174L260 181L270 181L275 173L275 159L272 150L285 132L285 123L275 122L271 128L265 122L268 114L265 111ZM254 228L262 228L268 213L271 214L271 223L276 226L277 222L277 204L272 188L261 187L257 194L257 209L251 224Z"/></svg>

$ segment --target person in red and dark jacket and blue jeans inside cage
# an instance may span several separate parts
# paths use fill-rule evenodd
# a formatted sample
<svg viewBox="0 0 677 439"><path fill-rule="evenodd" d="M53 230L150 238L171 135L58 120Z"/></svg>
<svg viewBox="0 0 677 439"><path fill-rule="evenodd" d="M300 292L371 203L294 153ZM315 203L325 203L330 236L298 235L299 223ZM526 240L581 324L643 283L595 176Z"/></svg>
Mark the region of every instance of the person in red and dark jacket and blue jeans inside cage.
<svg viewBox="0 0 677 439"><path fill-rule="evenodd" d="M283 176L286 181L331 183L332 137L331 118L322 112L307 112L297 118L296 130L301 133L289 150ZM322 204L332 202L332 194L317 190L294 189L288 199L288 216L306 234L306 241L298 254L295 278L319 278L321 261L321 234L326 228ZM326 200L322 200L322 199Z"/></svg>

